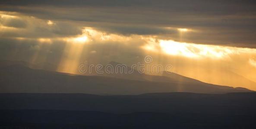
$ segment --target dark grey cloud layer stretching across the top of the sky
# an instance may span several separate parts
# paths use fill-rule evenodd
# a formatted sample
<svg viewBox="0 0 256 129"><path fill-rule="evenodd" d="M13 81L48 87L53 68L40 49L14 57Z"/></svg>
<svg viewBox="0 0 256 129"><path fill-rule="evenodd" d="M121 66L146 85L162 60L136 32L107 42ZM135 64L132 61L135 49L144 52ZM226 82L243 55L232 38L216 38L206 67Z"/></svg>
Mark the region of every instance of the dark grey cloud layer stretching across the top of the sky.
<svg viewBox="0 0 256 129"><path fill-rule="evenodd" d="M85 26L180 41L177 28L189 28L194 31L183 34L182 41L256 48L255 0L1 0L0 4L3 11L74 23L51 30L56 34L79 34L72 28Z"/></svg>

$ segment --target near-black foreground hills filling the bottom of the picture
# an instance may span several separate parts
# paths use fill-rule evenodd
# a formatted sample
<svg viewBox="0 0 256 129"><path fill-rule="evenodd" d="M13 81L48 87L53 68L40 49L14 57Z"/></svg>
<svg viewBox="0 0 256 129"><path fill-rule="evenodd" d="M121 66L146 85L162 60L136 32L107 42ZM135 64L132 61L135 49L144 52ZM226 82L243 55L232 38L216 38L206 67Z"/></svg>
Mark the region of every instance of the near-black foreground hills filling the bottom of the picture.
<svg viewBox="0 0 256 129"><path fill-rule="evenodd" d="M254 129L256 93L0 94L0 127Z"/></svg>

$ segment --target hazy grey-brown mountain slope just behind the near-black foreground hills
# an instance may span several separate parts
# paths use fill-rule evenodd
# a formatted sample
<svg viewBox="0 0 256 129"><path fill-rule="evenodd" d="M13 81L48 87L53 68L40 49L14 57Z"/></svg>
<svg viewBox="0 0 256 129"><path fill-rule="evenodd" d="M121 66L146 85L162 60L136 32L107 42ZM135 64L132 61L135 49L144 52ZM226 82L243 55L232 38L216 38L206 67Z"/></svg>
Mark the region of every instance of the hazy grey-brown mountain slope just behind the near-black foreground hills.
<svg viewBox="0 0 256 129"><path fill-rule="evenodd" d="M178 77L178 74L175 74ZM27 68L22 65L0 67L1 93L88 93L98 95L137 95L152 92L228 93L250 92L203 83L180 76L182 81L146 75L145 79L128 80L115 77L78 76Z"/></svg>

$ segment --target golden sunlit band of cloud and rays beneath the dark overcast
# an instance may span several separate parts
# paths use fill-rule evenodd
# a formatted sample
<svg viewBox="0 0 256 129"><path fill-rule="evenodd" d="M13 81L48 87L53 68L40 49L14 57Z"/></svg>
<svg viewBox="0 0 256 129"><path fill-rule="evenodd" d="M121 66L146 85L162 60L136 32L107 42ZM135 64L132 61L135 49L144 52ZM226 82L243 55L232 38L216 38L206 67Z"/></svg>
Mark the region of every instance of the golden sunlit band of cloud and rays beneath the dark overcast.
<svg viewBox="0 0 256 129"><path fill-rule="evenodd" d="M163 30L158 30L163 35L123 34L74 21L40 19L14 12L0 12L0 15L1 45L11 48L3 54L7 53L13 60L22 57L32 63L55 61L59 72L76 74L78 65L87 58L95 62L120 60L131 63L142 56L152 55L157 58L154 58L154 63L168 62L174 65L176 73L204 82L243 85L234 81L227 82L218 76L222 74L231 77L229 71L256 81L256 60L252 58L256 56L256 49L209 45L204 42L199 44L185 40L187 36L199 33L200 28L161 27L170 32L168 37ZM125 27L126 31L129 28ZM221 69L227 66L228 71ZM195 74L197 71L200 74ZM212 71L211 76L207 78L205 75L209 71Z"/></svg>

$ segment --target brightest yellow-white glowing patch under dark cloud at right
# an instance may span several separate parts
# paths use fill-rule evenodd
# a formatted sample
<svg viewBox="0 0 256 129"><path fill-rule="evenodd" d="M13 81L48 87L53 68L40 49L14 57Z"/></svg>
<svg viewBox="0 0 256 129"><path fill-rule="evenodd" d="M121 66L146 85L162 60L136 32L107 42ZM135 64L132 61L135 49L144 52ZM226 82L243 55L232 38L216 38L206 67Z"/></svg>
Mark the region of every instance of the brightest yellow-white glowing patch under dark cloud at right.
<svg viewBox="0 0 256 129"><path fill-rule="evenodd" d="M158 44L159 47L157 46ZM187 58L212 58L214 60L229 59L231 55L256 54L256 49L182 43L174 40L158 40L158 43L156 43L155 40L147 39L147 44L142 46L142 49Z"/></svg>

